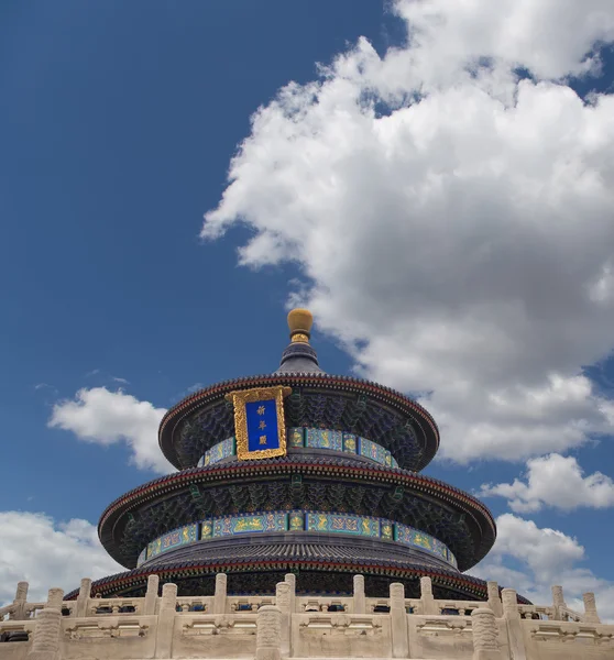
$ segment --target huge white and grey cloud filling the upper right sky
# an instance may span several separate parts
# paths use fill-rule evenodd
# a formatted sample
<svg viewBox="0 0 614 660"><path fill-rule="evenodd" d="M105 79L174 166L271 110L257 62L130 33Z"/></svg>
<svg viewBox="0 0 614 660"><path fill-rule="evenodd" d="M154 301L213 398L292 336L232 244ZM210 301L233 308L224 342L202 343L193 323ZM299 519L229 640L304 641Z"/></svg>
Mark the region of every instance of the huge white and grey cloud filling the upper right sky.
<svg viewBox="0 0 614 660"><path fill-rule="evenodd" d="M202 237L245 223L242 264L297 263L292 301L359 373L423 393L443 457L610 433L582 366L614 349L614 96L541 78L586 69L614 3L396 8L410 46L360 40L259 109Z"/></svg>

